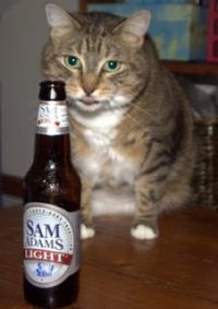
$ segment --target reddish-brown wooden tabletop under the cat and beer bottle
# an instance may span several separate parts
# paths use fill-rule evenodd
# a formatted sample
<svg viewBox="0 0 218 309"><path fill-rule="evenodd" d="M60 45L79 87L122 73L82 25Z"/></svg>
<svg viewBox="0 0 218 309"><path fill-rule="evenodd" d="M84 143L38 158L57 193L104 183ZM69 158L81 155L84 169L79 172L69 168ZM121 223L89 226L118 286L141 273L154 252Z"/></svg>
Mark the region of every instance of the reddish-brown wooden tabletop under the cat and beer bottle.
<svg viewBox="0 0 218 309"><path fill-rule="evenodd" d="M134 240L130 217L96 219L83 241L77 309L217 309L218 214L190 209L160 219L155 241ZM34 308L22 293L22 207L0 211L0 308Z"/></svg>

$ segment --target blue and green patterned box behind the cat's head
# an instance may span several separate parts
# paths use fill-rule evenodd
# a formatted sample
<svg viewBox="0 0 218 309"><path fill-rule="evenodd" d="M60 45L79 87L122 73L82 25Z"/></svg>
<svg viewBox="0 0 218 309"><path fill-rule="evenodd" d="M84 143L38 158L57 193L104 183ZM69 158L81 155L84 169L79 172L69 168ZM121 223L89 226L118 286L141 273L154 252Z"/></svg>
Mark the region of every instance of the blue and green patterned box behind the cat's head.
<svg viewBox="0 0 218 309"><path fill-rule="evenodd" d="M146 0L145 0L146 1ZM205 60L207 8L194 4L89 4L88 11L129 16L140 10L152 12L148 34L164 60Z"/></svg>

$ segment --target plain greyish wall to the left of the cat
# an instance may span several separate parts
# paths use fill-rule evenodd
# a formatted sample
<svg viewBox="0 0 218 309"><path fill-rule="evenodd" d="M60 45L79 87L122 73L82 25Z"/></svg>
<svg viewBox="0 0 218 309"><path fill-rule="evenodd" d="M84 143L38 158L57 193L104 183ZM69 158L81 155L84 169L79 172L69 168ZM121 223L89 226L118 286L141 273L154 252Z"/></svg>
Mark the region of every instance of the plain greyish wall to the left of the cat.
<svg viewBox="0 0 218 309"><path fill-rule="evenodd" d="M2 173L23 177L34 152L40 54L48 38L46 0L19 0L0 22ZM50 1L76 11L77 0Z"/></svg>

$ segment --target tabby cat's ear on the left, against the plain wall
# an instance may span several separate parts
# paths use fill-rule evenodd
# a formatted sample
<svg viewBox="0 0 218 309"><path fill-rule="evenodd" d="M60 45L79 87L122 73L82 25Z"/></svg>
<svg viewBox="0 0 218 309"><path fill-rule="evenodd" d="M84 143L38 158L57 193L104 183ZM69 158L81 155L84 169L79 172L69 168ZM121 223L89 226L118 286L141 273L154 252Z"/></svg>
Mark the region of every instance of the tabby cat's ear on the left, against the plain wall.
<svg viewBox="0 0 218 309"><path fill-rule="evenodd" d="M81 25L76 20L53 3L48 3L46 5L46 16L51 28L51 38L53 39L68 33L69 29L71 29L71 32L73 29L76 32L81 28Z"/></svg>

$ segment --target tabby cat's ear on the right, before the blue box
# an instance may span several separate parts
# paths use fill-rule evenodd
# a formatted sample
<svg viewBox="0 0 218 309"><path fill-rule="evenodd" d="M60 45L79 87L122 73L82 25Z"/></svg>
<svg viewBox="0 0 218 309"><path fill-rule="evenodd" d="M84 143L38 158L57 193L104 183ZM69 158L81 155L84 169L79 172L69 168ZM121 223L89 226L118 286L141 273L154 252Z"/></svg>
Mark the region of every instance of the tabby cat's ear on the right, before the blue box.
<svg viewBox="0 0 218 309"><path fill-rule="evenodd" d="M114 33L121 36L121 39L135 47L141 47L144 41L144 36L147 33L152 14L147 10L142 10L122 22L114 28Z"/></svg>

